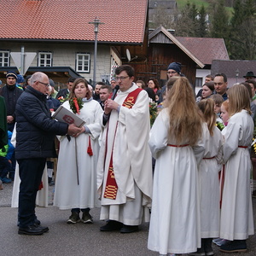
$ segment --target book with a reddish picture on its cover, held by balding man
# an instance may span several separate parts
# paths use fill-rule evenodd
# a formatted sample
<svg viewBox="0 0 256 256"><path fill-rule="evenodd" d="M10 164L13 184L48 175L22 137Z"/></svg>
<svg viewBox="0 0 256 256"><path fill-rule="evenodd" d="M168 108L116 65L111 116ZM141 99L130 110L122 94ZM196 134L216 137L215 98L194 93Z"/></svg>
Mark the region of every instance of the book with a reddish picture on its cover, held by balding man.
<svg viewBox="0 0 256 256"><path fill-rule="evenodd" d="M85 124L83 119L80 119L79 116L74 114L72 111L69 111L67 108L60 106L52 116L53 119L56 119L60 122L67 123L69 125L75 124L78 127L81 127Z"/></svg>

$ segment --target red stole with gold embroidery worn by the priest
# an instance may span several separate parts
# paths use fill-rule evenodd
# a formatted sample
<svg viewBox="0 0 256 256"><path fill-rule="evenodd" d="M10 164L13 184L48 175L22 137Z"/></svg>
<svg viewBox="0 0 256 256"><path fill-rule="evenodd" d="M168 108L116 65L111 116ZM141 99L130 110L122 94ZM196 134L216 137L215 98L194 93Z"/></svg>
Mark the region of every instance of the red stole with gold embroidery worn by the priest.
<svg viewBox="0 0 256 256"><path fill-rule="evenodd" d="M137 100L138 94L141 91L142 91L142 89L140 89L140 88L137 88L136 90L131 91L128 94L128 96L125 98L125 102L123 102L123 106L125 108L129 108L129 109L132 108ZM118 123L117 123L117 125L118 125ZM117 130L117 125L116 125L116 129L114 131L114 138L115 138L115 134L116 134L116 130ZM107 131L106 141L108 142L108 131ZM113 141L113 144L114 144L114 141ZM106 147L106 152L107 152L107 147ZM112 148L111 158L110 158L109 167L108 167L108 177L107 177L106 189L104 192L104 198L115 200L116 195L117 195L117 189L118 189L118 184L116 183L116 180L114 177L114 171L113 171L113 148Z"/></svg>

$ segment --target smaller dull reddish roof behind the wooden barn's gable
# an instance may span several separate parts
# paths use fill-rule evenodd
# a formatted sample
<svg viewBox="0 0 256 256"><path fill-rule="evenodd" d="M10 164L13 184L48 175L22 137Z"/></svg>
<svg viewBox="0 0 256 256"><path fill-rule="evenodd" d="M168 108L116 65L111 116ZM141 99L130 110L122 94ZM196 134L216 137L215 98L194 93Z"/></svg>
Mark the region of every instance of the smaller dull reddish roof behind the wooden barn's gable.
<svg viewBox="0 0 256 256"><path fill-rule="evenodd" d="M212 60L230 60L223 38L175 38L205 65Z"/></svg>

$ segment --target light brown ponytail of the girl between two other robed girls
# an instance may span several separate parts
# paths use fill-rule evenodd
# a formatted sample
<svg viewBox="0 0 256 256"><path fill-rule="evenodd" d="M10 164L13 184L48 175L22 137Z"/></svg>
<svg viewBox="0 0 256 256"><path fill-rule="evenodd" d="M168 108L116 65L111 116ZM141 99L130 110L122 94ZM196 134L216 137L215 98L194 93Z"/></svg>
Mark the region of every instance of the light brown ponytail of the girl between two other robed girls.
<svg viewBox="0 0 256 256"><path fill-rule="evenodd" d="M198 107L203 113L203 117L207 122L210 135L213 136L213 131L216 126L216 113L214 112L214 101L211 98L207 98L198 102Z"/></svg>

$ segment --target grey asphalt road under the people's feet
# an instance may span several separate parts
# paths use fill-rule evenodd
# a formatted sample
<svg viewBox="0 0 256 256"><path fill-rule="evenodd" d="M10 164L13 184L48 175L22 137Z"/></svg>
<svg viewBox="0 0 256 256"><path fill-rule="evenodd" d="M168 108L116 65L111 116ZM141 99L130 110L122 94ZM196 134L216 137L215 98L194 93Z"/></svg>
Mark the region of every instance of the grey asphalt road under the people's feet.
<svg viewBox="0 0 256 256"><path fill-rule="evenodd" d="M49 187L49 204L52 202L53 187ZM37 207L38 219L49 226L43 236L18 235L17 208L11 208L12 184L3 184L0 190L0 256L150 256L159 255L147 248L148 224L142 224L137 233L120 234L118 231L101 232L104 224L99 220L100 209L92 209L94 224L67 224L70 211L57 207ZM253 198L254 223L256 199ZM255 235L247 241L248 252L239 256L256 255ZM237 253L219 253L213 245L214 255L235 256Z"/></svg>

